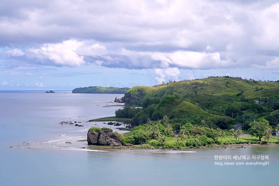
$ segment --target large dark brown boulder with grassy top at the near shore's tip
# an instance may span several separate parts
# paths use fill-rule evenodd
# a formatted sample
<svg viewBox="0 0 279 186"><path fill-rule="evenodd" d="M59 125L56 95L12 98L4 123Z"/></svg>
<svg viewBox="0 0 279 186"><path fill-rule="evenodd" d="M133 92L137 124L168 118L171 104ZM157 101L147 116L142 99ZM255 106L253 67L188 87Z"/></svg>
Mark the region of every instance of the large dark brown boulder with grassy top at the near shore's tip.
<svg viewBox="0 0 279 186"><path fill-rule="evenodd" d="M101 129L99 131L89 130L87 133L88 145L107 145L120 146L123 145L121 138L112 132L111 129Z"/></svg>

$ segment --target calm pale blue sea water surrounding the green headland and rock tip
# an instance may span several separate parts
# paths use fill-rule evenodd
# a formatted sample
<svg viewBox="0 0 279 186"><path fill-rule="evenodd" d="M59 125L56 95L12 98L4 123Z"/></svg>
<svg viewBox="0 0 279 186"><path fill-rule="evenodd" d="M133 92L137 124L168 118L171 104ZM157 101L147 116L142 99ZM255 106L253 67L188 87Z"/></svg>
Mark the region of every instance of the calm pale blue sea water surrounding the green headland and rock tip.
<svg viewBox="0 0 279 186"><path fill-rule="evenodd" d="M278 185L279 146L98 151L75 142L107 126L87 121L114 115L116 96L0 91L0 185ZM257 162L268 164L245 164Z"/></svg>

